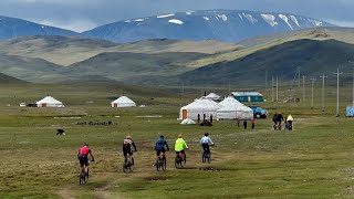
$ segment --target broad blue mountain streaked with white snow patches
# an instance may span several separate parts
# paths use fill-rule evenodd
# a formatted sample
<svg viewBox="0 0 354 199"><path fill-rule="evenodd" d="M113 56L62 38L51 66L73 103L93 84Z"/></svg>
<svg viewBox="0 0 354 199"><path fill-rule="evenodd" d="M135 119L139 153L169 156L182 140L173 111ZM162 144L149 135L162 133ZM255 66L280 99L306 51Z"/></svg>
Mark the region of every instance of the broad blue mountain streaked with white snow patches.
<svg viewBox="0 0 354 199"><path fill-rule="evenodd" d="M319 27L333 25L280 12L206 10L124 20L95 28L83 34L115 42L146 39L210 39L238 42L257 35Z"/></svg>

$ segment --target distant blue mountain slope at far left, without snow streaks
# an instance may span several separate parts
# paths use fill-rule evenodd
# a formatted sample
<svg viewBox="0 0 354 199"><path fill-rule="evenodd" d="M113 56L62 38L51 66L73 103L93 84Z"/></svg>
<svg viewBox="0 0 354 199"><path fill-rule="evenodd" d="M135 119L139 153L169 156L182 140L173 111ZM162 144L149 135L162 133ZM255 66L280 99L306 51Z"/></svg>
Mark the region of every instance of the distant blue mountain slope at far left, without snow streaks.
<svg viewBox="0 0 354 199"><path fill-rule="evenodd" d="M79 33L30 21L0 15L0 39L23 35L76 35Z"/></svg>

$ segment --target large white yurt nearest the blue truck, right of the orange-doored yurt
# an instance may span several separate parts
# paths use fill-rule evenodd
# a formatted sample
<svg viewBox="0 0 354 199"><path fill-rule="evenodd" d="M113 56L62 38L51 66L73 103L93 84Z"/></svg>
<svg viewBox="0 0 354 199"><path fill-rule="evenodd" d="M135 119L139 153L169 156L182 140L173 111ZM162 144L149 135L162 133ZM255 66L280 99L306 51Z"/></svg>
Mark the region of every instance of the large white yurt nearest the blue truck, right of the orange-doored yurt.
<svg viewBox="0 0 354 199"><path fill-rule="evenodd" d="M233 96L229 96L220 102L223 106L217 111L217 119L251 119L253 118L253 111L237 101Z"/></svg>

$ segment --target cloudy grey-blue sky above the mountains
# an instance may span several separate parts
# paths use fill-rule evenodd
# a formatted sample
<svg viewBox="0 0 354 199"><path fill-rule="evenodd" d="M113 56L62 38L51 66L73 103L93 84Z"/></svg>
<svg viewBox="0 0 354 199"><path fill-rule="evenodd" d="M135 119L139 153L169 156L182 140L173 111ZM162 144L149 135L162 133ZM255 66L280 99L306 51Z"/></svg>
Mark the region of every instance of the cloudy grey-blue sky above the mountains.
<svg viewBox="0 0 354 199"><path fill-rule="evenodd" d="M354 0L0 0L0 15L79 32L119 20L206 9L280 11L354 27Z"/></svg>

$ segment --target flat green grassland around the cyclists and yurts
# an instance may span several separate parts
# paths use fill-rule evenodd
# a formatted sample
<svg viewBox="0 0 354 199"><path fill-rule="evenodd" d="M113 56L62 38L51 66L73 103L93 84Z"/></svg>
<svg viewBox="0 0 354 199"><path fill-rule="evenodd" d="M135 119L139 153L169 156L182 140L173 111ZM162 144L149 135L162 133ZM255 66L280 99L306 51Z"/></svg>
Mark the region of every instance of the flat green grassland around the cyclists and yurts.
<svg viewBox="0 0 354 199"><path fill-rule="evenodd" d="M352 91L341 88L341 117L334 117L335 90L325 92L325 112L320 91L315 88L313 108L310 88L306 101L298 104L270 102L271 91L261 91L268 100L262 106L270 115L291 113L295 119L293 132L274 132L270 118L258 119L253 130L236 122L215 122L212 127L179 125L179 107L200 95L199 90L180 95L114 84L2 85L0 198L353 198L354 123L343 116L345 105L352 104ZM111 108L110 102L123 92L146 107ZM18 106L46 94L66 107ZM281 88L280 98L287 95ZM137 117L154 115L162 117ZM76 125L91 121L114 124ZM66 135L56 136L56 128ZM201 164L198 140L205 132L216 143L211 164ZM165 135L173 148L180 133L189 144L186 167L174 168L174 151L168 151L167 170L156 171L155 139ZM121 143L127 134L138 149L131 174L122 171ZM90 143L95 163L90 181L79 185L76 151L84 142Z"/></svg>

